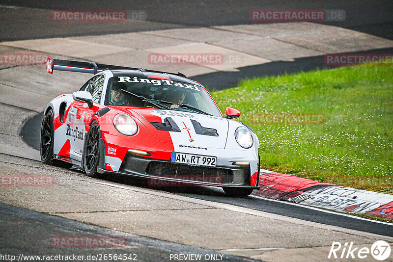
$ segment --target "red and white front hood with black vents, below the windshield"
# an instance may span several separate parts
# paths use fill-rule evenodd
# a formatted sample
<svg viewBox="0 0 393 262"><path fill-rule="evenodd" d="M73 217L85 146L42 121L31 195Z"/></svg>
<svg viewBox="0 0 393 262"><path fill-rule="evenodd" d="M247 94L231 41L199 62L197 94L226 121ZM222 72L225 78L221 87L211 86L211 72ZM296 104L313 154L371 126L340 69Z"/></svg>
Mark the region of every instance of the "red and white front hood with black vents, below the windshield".
<svg viewBox="0 0 393 262"><path fill-rule="evenodd" d="M174 146L225 148L228 135L225 118L176 110L135 107L127 110L161 142L166 142L169 133Z"/></svg>

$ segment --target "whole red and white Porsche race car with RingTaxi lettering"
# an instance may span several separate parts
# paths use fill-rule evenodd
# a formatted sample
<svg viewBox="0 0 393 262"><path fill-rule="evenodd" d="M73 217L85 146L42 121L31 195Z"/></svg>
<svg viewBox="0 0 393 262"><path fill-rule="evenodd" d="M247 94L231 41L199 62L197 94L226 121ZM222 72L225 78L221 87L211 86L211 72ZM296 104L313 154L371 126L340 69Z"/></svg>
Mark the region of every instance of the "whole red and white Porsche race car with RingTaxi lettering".
<svg viewBox="0 0 393 262"><path fill-rule="evenodd" d="M77 165L89 176L119 173L151 185L209 185L229 196L259 189L258 138L227 107L183 74L48 57L47 71L94 74L44 111L46 164Z"/></svg>

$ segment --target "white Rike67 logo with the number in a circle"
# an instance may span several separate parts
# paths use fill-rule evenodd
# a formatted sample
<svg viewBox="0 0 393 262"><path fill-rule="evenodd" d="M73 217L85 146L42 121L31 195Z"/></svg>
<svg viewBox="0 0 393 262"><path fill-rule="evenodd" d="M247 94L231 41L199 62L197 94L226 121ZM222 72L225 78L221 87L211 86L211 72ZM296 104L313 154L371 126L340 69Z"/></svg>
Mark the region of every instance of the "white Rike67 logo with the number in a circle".
<svg viewBox="0 0 393 262"><path fill-rule="evenodd" d="M388 242L378 240L372 244L371 248L368 247L353 247L353 242L344 243L333 242L330 248L328 259L365 259L371 254L371 256L379 261L387 260L391 255L391 246Z"/></svg>

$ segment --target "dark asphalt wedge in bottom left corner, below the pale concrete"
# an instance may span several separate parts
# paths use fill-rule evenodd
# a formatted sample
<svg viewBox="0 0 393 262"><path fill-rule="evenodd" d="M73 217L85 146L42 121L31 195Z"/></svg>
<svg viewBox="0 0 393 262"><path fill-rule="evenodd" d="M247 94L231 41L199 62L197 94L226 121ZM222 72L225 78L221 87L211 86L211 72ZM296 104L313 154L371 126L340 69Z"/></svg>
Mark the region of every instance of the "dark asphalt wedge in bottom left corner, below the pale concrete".
<svg viewBox="0 0 393 262"><path fill-rule="evenodd" d="M126 248L112 249L111 252L138 254L139 261L165 261L168 260L170 254L201 254L223 256L228 261L253 261L246 258L231 256L227 254L220 254L212 252L211 250L204 250L190 246L179 245L168 241L161 241L158 239L136 236L133 234L122 233L119 231L88 225L78 221L50 216L35 212L32 210L20 209L4 204L0 204L0 220L5 224L2 226L2 237L0 245L6 243L13 243L11 250L23 251L29 250L35 254L46 255L69 255L68 251L59 252L53 248L47 248L45 241L37 242L37 235L41 236L40 239L51 238L53 234L65 235L73 234L73 236L116 236L125 239L127 242ZM19 230L15 230L18 228ZM23 238L23 242L16 242L15 239ZM108 251L102 249L97 252L94 248L85 248L82 251L74 252L77 256L87 257L89 254L98 256L99 254L105 255Z"/></svg>

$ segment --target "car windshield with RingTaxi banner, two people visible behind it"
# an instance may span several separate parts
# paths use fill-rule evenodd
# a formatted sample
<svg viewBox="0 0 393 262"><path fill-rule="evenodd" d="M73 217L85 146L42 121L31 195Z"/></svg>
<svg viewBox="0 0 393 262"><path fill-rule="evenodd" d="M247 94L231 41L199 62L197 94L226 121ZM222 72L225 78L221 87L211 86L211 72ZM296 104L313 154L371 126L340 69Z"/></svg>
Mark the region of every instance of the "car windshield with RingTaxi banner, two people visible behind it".
<svg viewBox="0 0 393 262"><path fill-rule="evenodd" d="M169 79L113 77L108 82L105 105L153 107L222 117L204 88Z"/></svg>

